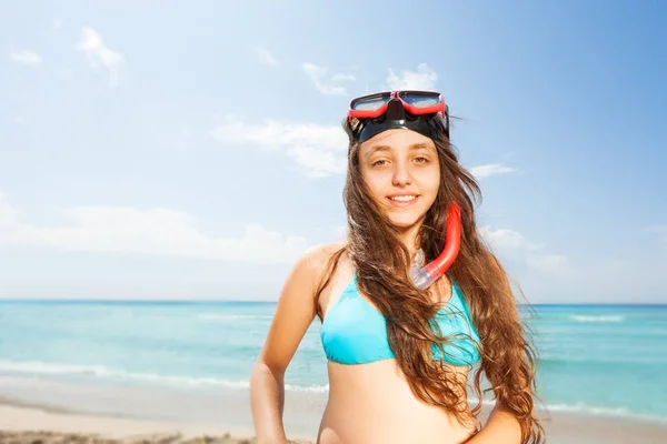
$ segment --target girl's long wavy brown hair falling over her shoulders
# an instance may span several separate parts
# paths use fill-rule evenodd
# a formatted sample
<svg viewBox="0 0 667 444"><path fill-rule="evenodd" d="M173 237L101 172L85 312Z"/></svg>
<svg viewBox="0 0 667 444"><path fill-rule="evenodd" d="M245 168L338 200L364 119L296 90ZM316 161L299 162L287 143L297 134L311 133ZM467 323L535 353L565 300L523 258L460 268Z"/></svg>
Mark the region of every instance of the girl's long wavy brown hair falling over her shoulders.
<svg viewBox="0 0 667 444"><path fill-rule="evenodd" d="M462 291L480 337L481 360L471 386L479 402L471 411L468 411L467 402L461 401L466 400L466 382L431 355L432 343L456 341L440 336L429 323L441 304L434 303L428 291L411 284L407 274L410 253L399 241L398 230L370 198L359 170L359 144L355 141L352 125L347 119L342 124L350 140L344 191L348 242L332 255L329 273L322 276L316 297L319 299L338 260L347 251L357 271L359 289L387 320L389 345L416 396L446 408L465 423L470 413L477 417L484 393L492 390L496 403L520 423L521 442L544 442L544 430L534 406L537 352L518 314L507 274L478 234L474 203L481 201L479 185L459 164L444 127L438 124L440 137L434 140L440 163L440 188L424 220L419 241L427 262L437 258L445 244L448 204L458 203L461 244L448 275ZM321 313L318 314L321 319ZM482 373L490 383L490 389L484 391Z"/></svg>

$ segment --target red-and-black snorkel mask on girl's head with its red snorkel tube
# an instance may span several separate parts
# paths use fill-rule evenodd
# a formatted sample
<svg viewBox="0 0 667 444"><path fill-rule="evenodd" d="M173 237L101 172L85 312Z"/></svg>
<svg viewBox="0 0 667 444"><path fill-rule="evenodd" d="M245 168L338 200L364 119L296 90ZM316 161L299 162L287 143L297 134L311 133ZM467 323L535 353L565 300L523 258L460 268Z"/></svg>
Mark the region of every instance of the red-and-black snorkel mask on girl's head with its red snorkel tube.
<svg viewBox="0 0 667 444"><path fill-rule="evenodd" d="M442 122L449 137L449 109L440 93L429 91L391 91L354 99L348 119L359 121L355 131L361 143L390 129L416 131L434 140L439 139L436 119ZM409 276L415 286L428 289L442 276L456 260L461 241L461 211L450 203L447 212L445 246L434 261L424 265L424 251L417 251Z"/></svg>

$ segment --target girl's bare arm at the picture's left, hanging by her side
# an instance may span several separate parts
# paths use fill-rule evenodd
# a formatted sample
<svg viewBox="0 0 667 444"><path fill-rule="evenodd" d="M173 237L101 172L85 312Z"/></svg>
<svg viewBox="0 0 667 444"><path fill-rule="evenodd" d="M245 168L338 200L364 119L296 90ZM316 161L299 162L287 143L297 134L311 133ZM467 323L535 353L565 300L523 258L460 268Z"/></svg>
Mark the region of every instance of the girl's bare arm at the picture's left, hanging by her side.
<svg viewBox="0 0 667 444"><path fill-rule="evenodd" d="M263 347L250 377L258 444L282 444L283 375L316 313L317 252L303 254L287 278Z"/></svg>

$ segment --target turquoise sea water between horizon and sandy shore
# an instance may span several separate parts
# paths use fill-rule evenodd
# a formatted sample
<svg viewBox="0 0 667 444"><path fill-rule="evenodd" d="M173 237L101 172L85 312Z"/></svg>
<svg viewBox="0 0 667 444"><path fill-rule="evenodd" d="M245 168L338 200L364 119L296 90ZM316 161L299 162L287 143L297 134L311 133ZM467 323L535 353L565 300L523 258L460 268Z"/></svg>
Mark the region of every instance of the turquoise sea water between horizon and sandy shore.
<svg viewBox="0 0 667 444"><path fill-rule="evenodd" d="M245 391L275 303L0 301L0 377ZM667 422L667 305L536 305L549 410ZM286 375L326 394L320 324ZM8 389L4 386L4 389ZM2 396L0 384L0 396Z"/></svg>

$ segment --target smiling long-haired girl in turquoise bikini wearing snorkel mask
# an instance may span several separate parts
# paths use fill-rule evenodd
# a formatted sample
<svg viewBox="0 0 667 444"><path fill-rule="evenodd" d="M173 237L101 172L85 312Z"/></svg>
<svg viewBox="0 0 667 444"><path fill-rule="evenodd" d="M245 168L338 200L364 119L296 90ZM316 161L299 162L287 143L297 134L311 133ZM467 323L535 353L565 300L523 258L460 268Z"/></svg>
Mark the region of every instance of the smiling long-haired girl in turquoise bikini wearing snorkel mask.
<svg viewBox="0 0 667 444"><path fill-rule="evenodd" d="M283 374L315 316L329 375L319 444L544 442L536 353L478 235L479 188L442 95L365 95L344 128L348 238L306 252L285 283L251 375L258 443L287 442ZM484 427L468 385L478 401L495 394Z"/></svg>

